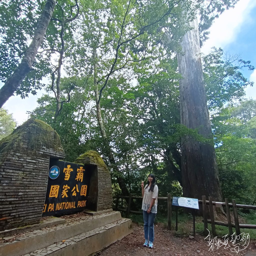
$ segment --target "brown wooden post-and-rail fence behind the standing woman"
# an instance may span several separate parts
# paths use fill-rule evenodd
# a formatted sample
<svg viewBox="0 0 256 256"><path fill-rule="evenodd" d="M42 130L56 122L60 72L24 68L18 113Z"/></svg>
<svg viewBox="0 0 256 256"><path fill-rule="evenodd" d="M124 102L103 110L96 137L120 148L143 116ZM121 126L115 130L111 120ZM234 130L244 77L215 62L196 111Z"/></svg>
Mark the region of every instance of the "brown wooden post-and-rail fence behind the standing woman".
<svg viewBox="0 0 256 256"><path fill-rule="evenodd" d="M114 209L116 211L121 211L121 212L125 212L126 213L126 218L130 217L130 214L143 214L142 211L134 211L131 210L131 202L132 199L140 199L142 200L142 196L132 196L132 194L129 194L129 196L113 196L113 198L115 199L115 207ZM127 208L124 209L123 208L123 199L127 199L128 200L128 205ZM121 199L122 201L122 207L119 208L119 199ZM167 197L157 197L158 201L167 201L167 223L168 223L168 230L172 229L172 197L170 194L167 195ZM240 235L240 228L249 228L249 229L256 229L256 225L251 225L251 224L240 224L239 223L239 218L238 218L238 212L237 209L241 208L241 209L252 209L252 210L256 210L256 206L255 205L241 205L241 204L236 204L236 200L232 199L232 203L228 202L228 199L225 198L225 202L215 202L212 201L212 198L209 197L209 200L206 200L206 196L202 196L202 200L198 200L198 203L200 205L202 205L202 211L203 211L203 222L204 222L204 233L205 235L208 234L208 223L211 224L211 228L212 228L212 234L214 236L216 236L216 229L215 229L215 225L219 225L219 226L226 226L229 228L229 235L231 236L233 234L233 230L232 228L236 229L236 235ZM207 208L207 206L209 206L209 209ZM227 214L227 221L228 222L221 222L221 221L216 221L214 219L214 207L216 208L221 208L221 207L225 207L226 208L226 214ZM230 215L230 207L233 208L233 215L234 215L234 223L231 222L231 215ZM178 207L175 206L176 208L176 231L178 230ZM209 210L209 211L208 211ZM207 219L208 216L208 212L210 213L210 219ZM193 211L193 233L195 235L195 214Z"/></svg>

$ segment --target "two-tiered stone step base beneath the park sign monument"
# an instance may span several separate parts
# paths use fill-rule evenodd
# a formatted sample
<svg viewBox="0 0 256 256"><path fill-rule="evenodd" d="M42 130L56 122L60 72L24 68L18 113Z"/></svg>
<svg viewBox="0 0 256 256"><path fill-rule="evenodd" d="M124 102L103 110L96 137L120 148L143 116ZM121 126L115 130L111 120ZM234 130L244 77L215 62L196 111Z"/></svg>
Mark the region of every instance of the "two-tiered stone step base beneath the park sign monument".
<svg viewBox="0 0 256 256"><path fill-rule="evenodd" d="M10 241L0 243L0 256L88 256L132 232L132 221L122 218L120 212L85 214L55 226L16 234Z"/></svg>

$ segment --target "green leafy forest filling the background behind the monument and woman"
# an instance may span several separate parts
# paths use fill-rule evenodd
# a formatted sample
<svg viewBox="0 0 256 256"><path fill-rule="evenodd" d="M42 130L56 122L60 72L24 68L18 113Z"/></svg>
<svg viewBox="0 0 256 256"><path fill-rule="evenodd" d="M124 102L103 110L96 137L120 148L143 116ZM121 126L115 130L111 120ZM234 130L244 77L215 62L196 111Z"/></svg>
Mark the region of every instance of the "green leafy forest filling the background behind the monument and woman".
<svg viewBox="0 0 256 256"><path fill-rule="evenodd" d="M2 82L24 58L46 2L1 2ZM255 204L256 101L244 99L252 83L241 72L254 69L250 61L220 48L202 55L214 142L180 124L177 54L187 24L199 16L203 42L236 2L57 1L33 69L14 92L24 98L46 89L31 118L58 132L67 161L98 151L114 194L140 195L141 180L154 173L159 196L182 195L181 138L190 136L214 143L222 197ZM15 123L4 109L0 118L4 137Z"/></svg>

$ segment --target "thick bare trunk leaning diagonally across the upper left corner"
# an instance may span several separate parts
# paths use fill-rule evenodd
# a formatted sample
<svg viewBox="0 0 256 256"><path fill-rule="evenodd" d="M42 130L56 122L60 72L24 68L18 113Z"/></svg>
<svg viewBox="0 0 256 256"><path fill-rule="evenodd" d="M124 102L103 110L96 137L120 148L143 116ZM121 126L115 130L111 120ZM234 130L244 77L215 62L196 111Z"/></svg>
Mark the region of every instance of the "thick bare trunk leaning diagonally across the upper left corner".
<svg viewBox="0 0 256 256"><path fill-rule="evenodd" d="M56 0L48 0L46 2L42 15L38 20L34 38L26 50L23 60L14 70L13 74L8 78L4 86L0 89L0 108L13 95L31 70L38 48L42 44L46 29L51 20L55 4Z"/></svg>

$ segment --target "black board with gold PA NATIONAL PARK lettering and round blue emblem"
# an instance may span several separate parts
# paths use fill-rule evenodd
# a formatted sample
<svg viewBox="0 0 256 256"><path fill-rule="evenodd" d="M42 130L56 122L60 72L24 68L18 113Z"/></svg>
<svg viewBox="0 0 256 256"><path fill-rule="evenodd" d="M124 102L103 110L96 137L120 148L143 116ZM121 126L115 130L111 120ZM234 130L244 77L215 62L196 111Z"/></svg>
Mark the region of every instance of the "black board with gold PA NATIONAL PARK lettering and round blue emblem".
<svg viewBox="0 0 256 256"><path fill-rule="evenodd" d="M83 210L89 183L90 172L84 165L51 159L42 216Z"/></svg>

